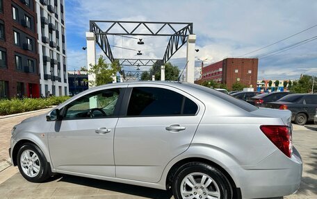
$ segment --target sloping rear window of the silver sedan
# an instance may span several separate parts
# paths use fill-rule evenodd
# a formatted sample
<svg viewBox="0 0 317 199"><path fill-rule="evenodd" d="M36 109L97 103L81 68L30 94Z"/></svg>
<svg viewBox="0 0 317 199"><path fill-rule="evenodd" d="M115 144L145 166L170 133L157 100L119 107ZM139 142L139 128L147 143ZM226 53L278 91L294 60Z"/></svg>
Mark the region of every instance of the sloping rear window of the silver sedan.
<svg viewBox="0 0 317 199"><path fill-rule="evenodd" d="M227 101L229 103L232 103L233 105L236 105L237 107L240 107L241 109L247 111L247 112L252 112L254 110L257 110L258 108L255 107L254 105L251 105L250 103L247 103L245 101L238 100L237 98L234 98L233 96L223 94L221 92L218 92L213 89L209 89L208 87L203 87L201 85L195 85L195 84L186 84L190 87L193 87L195 89L199 89L203 92L212 94L213 96L217 96L218 98L221 98L224 101Z"/></svg>

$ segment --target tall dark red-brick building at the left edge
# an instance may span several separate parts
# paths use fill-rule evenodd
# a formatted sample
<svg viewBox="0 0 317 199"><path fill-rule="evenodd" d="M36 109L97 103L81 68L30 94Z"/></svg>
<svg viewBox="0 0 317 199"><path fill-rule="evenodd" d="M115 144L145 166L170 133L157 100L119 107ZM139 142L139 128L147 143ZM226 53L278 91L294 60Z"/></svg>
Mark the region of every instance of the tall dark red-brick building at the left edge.
<svg viewBox="0 0 317 199"><path fill-rule="evenodd" d="M35 1L0 0L0 98L39 97Z"/></svg>

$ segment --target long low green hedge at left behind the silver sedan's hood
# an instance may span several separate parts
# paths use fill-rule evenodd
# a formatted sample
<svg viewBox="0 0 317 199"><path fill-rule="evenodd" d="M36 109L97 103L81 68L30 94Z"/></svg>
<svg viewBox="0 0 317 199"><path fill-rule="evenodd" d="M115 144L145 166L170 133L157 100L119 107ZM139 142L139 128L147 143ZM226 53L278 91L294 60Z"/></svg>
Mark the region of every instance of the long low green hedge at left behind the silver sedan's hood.
<svg viewBox="0 0 317 199"><path fill-rule="evenodd" d="M69 96L52 96L49 98L12 98L10 100L0 100L0 115L40 110L52 105L59 105L69 98Z"/></svg>

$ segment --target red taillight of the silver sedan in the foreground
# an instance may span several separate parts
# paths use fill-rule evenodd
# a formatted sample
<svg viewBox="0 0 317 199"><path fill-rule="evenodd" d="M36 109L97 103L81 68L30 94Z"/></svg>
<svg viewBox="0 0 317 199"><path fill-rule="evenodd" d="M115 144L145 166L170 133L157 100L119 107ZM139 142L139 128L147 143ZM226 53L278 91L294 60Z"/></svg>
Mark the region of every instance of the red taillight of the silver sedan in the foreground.
<svg viewBox="0 0 317 199"><path fill-rule="evenodd" d="M279 148L287 157L293 153L292 132L288 126L270 126L263 125L260 129Z"/></svg>

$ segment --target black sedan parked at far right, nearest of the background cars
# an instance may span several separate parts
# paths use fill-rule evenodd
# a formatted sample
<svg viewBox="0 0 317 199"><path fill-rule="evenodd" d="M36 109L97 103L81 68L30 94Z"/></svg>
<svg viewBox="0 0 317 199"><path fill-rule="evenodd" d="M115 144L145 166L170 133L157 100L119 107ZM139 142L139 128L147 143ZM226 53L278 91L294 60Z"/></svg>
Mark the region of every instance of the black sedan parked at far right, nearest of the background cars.
<svg viewBox="0 0 317 199"><path fill-rule="evenodd" d="M266 107L290 110L292 121L304 125L307 121L314 121L317 109L317 94L290 94L276 102L266 103Z"/></svg>

